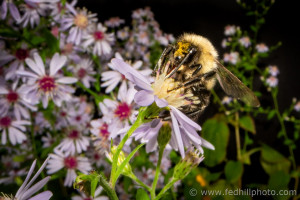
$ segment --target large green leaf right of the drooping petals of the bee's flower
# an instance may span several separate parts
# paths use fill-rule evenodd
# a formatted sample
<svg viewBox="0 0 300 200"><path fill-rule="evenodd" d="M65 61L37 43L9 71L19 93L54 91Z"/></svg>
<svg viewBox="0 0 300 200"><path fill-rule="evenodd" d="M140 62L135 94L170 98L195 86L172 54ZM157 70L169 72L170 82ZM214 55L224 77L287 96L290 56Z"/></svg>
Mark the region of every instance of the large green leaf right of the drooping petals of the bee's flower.
<svg viewBox="0 0 300 200"><path fill-rule="evenodd" d="M215 150L205 149L204 163L213 167L226 158L229 128L224 121L216 118L207 120L202 126L202 137L215 146Z"/></svg>

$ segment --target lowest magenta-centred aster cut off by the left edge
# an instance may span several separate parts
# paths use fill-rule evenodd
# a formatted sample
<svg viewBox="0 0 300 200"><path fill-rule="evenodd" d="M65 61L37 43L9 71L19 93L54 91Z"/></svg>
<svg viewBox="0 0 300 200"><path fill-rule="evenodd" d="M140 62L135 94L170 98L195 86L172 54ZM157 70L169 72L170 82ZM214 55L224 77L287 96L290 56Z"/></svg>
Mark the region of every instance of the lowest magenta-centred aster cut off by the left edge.
<svg viewBox="0 0 300 200"><path fill-rule="evenodd" d="M30 125L29 121L13 120L10 116L0 117L0 131L2 132L1 143L6 144L7 135L12 145L21 144L26 140L25 125Z"/></svg>

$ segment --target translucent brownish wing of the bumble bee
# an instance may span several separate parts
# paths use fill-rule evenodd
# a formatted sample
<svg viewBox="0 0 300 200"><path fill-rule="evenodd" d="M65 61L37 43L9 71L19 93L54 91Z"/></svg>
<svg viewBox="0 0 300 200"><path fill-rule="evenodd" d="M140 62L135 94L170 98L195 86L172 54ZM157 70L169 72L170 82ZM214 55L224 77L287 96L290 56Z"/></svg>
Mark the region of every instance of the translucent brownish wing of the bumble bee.
<svg viewBox="0 0 300 200"><path fill-rule="evenodd" d="M217 61L217 79L227 95L240 99L246 104L258 107L260 105L255 94L244 85L235 75Z"/></svg>

